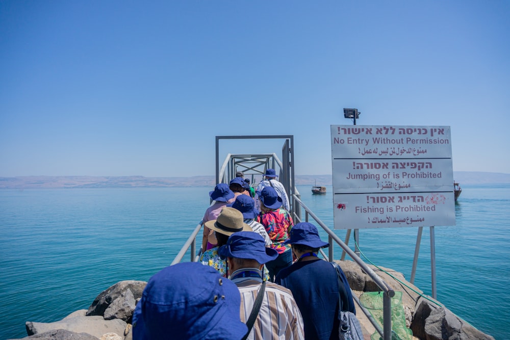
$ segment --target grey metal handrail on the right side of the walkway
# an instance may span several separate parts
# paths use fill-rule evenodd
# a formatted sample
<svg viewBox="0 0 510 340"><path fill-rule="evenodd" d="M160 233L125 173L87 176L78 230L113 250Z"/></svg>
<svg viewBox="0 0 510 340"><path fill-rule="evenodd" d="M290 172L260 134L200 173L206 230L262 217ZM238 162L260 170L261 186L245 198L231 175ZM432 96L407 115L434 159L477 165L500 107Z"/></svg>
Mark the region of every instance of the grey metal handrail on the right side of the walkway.
<svg viewBox="0 0 510 340"><path fill-rule="evenodd" d="M374 280L379 289L383 291L385 294L382 295L382 333L380 327L377 324L374 324L375 320L370 320L370 322L374 325L377 332L382 336L384 340L390 340L392 338L391 332L391 298L395 296L395 291L384 281L379 275L377 275L372 268L368 267L368 265L358 256L356 255L340 238L329 229L311 210L308 206L306 206L296 195L293 195L295 202L297 202L301 207L304 208L307 217L308 215L312 216L312 218L319 224L322 229L328 234L329 241L335 241L354 261L361 269L367 273L368 276ZM300 221L300 218L296 216L296 218ZM308 218L307 218L308 220ZM329 246L329 261L333 261L333 245Z"/></svg>

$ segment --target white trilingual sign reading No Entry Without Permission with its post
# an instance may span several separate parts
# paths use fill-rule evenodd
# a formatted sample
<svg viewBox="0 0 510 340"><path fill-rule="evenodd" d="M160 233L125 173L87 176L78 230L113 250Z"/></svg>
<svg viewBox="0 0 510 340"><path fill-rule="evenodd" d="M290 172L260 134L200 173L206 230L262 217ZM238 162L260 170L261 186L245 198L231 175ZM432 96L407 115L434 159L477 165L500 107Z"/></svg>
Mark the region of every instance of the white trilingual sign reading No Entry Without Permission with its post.
<svg viewBox="0 0 510 340"><path fill-rule="evenodd" d="M335 229L431 226L435 291L433 226L455 225L450 127L331 125L331 164Z"/></svg>

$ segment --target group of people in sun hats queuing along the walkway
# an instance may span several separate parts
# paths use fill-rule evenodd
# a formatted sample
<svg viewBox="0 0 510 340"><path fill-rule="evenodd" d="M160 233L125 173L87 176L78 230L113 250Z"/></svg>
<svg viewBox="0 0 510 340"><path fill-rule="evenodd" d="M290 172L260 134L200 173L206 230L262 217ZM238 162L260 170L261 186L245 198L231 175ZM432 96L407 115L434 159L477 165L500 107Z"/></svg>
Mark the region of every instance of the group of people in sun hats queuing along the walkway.
<svg viewBox="0 0 510 340"><path fill-rule="evenodd" d="M133 315L134 340L338 339L339 311L355 313L350 288L317 256L329 246L317 227L293 224L274 169L265 176L253 197L237 188L239 179L210 192L216 202L203 217L201 264L150 278Z"/></svg>

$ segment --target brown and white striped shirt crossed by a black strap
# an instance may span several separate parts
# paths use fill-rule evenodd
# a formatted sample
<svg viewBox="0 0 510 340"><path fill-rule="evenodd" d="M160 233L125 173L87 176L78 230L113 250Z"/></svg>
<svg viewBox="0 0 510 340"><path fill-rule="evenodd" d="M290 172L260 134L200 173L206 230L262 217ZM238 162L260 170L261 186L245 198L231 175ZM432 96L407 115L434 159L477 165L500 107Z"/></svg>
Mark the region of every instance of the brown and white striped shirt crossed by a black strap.
<svg viewBox="0 0 510 340"><path fill-rule="evenodd" d="M241 293L241 321L246 322L257 298L261 280L233 279L232 281L236 283ZM266 282L264 295L259 316L253 324L248 339L303 340L303 318L291 291L276 283Z"/></svg>

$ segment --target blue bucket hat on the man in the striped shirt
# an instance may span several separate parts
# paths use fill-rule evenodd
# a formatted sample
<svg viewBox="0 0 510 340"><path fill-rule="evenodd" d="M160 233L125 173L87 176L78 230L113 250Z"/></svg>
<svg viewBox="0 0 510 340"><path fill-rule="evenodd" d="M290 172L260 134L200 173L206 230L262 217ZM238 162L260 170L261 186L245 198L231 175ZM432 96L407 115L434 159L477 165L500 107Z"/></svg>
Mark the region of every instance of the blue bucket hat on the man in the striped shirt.
<svg viewBox="0 0 510 340"><path fill-rule="evenodd" d="M233 233L226 245L218 248L221 258L236 257L256 260L261 265L276 259L278 252L266 248L266 242L261 234L253 231L239 231Z"/></svg>

